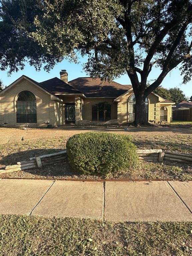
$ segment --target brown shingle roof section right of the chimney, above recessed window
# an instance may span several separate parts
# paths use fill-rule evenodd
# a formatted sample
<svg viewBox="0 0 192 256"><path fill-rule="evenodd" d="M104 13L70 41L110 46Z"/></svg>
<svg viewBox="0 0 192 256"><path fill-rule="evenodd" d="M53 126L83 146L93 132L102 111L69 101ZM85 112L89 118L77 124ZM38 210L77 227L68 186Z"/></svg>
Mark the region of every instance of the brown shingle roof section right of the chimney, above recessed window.
<svg viewBox="0 0 192 256"><path fill-rule="evenodd" d="M132 88L131 85L122 85L114 81L104 82L101 86L99 78L79 77L68 82L86 97L118 97Z"/></svg>

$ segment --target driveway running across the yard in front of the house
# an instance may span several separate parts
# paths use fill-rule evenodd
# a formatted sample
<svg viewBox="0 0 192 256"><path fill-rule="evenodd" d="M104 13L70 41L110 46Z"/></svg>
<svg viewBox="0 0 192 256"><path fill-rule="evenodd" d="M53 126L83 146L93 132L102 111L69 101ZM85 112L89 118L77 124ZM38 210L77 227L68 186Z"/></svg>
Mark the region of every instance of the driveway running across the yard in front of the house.
<svg viewBox="0 0 192 256"><path fill-rule="evenodd" d="M89 131L105 131L122 134L162 134L166 135L172 133L178 134L192 134L192 127L127 127L127 126L94 126L94 127L77 127L77 126L62 126L53 129L47 128L28 128L24 130L22 128L3 128L0 127L0 144L12 143L21 141L22 137L25 140L33 140L38 138L49 138L59 136L72 136L81 132Z"/></svg>

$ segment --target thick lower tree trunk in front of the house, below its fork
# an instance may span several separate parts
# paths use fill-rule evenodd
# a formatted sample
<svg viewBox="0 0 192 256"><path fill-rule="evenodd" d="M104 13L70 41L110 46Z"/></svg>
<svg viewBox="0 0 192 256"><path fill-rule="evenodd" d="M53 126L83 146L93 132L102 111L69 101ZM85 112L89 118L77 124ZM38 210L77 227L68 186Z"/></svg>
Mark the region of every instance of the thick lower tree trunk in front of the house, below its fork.
<svg viewBox="0 0 192 256"><path fill-rule="evenodd" d="M148 124L146 109L145 109L145 99L144 95L135 96L135 121L133 122L135 126Z"/></svg>

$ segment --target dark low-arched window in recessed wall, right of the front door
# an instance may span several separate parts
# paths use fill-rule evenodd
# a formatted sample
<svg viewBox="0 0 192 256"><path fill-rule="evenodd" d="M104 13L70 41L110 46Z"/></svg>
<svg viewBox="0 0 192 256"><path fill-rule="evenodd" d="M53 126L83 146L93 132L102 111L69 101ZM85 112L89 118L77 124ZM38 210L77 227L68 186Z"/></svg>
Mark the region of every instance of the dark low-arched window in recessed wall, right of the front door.
<svg viewBox="0 0 192 256"><path fill-rule="evenodd" d="M103 104L102 104L103 103ZM101 102L92 106L92 121L106 122L111 120L111 105Z"/></svg>

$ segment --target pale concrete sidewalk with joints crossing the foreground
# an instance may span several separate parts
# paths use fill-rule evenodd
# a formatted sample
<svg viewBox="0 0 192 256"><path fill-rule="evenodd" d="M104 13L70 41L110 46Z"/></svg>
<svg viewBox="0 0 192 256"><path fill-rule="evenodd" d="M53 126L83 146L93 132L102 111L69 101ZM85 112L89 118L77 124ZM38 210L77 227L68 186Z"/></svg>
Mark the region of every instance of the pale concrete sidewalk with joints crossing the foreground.
<svg viewBox="0 0 192 256"><path fill-rule="evenodd" d="M192 221L192 182L0 180L0 214Z"/></svg>

